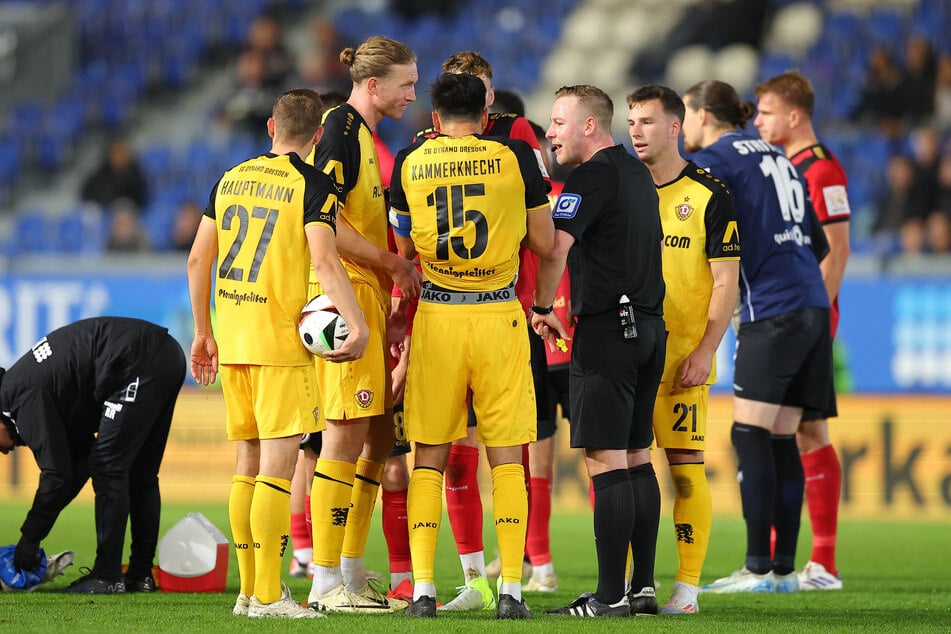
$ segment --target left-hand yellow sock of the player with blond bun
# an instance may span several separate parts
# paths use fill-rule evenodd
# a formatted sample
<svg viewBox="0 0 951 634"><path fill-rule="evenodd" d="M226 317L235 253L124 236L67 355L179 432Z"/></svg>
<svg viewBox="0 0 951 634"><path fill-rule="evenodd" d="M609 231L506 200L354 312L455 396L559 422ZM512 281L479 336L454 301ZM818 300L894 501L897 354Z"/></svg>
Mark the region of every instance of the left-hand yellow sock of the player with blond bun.
<svg viewBox="0 0 951 634"><path fill-rule="evenodd" d="M340 460L317 460L310 492L310 517L314 531L314 563L340 565L340 550L350 514L356 465Z"/></svg>

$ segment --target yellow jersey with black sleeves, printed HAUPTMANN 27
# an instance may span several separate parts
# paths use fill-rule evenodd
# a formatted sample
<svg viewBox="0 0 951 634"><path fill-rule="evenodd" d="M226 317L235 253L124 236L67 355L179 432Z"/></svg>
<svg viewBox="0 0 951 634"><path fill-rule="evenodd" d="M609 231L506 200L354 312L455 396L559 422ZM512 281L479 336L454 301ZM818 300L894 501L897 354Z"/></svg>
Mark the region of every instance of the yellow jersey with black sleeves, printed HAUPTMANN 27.
<svg viewBox="0 0 951 634"><path fill-rule="evenodd" d="M304 227L336 231L336 210L333 182L296 154L265 154L224 173L205 208L218 231L220 363L313 363L297 333L311 268Z"/></svg>

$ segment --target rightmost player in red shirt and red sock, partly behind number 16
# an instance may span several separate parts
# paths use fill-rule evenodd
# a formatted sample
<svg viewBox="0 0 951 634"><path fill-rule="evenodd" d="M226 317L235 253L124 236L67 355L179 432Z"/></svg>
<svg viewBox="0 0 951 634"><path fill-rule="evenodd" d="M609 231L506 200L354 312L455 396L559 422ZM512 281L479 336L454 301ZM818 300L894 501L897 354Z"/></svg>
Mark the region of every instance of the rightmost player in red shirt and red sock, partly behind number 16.
<svg viewBox="0 0 951 634"><path fill-rule="evenodd" d="M760 136L780 145L806 181L809 197L829 242L829 255L819 263L831 302L831 335L839 325L839 287L849 257L849 195L845 170L819 143L812 126L815 93L798 71L771 77L756 87ZM796 432L806 478L806 504L812 525L812 555L799 572L801 590L840 590L835 565L842 467L829 438L829 412L806 409Z"/></svg>

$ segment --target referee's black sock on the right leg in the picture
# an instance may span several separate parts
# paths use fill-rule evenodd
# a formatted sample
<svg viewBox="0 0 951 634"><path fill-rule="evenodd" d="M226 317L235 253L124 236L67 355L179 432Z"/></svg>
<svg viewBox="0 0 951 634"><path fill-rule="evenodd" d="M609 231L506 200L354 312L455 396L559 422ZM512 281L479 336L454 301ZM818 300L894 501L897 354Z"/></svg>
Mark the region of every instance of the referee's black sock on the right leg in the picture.
<svg viewBox="0 0 951 634"><path fill-rule="evenodd" d="M634 532L631 552L634 565L631 590L654 587L654 557L657 554L657 525L660 522L660 487L651 463L628 469L634 488Z"/></svg>

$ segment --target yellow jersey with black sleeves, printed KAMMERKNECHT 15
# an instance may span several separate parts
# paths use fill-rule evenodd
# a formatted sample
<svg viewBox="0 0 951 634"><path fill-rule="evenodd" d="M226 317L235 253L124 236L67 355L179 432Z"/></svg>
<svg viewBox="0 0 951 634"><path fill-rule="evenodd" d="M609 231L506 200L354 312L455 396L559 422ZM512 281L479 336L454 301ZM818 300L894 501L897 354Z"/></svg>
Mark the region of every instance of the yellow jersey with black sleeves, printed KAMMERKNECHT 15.
<svg viewBox="0 0 951 634"><path fill-rule="evenodd" d="M548 206L547 190L524 141L437 136L397 155L390 223L416 245L428 281L501 289L515 281L526 214Z"/></svg>

